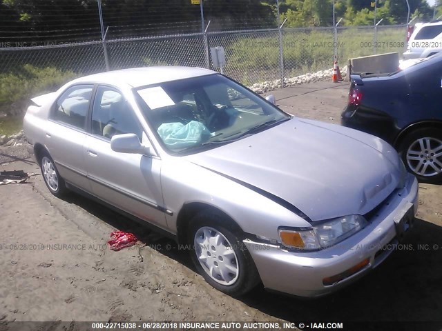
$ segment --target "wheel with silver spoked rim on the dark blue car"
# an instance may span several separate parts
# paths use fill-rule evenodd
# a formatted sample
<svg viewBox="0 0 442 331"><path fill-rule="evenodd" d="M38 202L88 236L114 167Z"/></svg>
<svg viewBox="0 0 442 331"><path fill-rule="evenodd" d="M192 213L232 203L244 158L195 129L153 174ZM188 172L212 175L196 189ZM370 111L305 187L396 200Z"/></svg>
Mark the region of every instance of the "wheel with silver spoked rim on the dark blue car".
<svg viewBox="0 0 442 331"><path fill-rule="evenodd" d="M419 181L442 182L442 130L422 128L410 132L398 150L407 170Z"/></svg>

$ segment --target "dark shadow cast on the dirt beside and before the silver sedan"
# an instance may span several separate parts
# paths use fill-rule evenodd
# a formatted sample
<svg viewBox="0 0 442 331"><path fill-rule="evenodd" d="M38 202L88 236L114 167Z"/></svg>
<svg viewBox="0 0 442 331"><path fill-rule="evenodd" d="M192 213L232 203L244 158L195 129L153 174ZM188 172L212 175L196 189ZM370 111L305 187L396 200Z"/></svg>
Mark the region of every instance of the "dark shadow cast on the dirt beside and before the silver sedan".
<svg viewBox="0 0 442 331"><path fill-rule="evenodd" d="M196 272L188 248L78 194L65 200ZM334 294L303 299L258 285L240 301L287 321L442 321L441 284L442 227L416 219L412 232L378 268Z"/></svg>

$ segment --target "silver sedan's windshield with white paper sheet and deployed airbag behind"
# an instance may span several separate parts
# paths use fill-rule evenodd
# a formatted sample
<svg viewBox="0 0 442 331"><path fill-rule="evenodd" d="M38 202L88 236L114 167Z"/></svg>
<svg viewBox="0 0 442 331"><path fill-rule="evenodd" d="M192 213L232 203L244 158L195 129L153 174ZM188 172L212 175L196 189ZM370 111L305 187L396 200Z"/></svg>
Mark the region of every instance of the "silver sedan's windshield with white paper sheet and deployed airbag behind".
<svg viewBox="0 0 442 331"><path fill-rule="evenodd" d="M157 138L173 154L229 143L290 118L220 74L137 88L135 98Z"/></svg>

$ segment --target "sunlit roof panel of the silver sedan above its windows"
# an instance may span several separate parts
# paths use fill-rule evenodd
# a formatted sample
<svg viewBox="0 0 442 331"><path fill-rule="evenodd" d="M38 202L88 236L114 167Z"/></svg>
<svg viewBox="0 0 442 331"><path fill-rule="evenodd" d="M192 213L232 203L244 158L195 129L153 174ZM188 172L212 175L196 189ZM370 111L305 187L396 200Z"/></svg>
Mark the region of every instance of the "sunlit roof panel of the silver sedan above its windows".
<svg viewBox="0 0 442 331"><path fill-rule="evenodd" d="M143 67L90 74L89 76L75 79L71 83L106 83L115 86L126 85L138 88L165 81L175 81L177 79L206 76L207 74L215 73L217 72L195 67Z"/></svg>

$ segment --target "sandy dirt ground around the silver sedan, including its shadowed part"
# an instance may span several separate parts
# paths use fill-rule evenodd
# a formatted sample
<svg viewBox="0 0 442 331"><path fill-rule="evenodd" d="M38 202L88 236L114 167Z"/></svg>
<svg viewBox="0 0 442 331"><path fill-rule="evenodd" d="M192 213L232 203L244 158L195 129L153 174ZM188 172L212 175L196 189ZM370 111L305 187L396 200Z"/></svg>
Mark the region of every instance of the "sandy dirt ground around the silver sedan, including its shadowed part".
<svg viewBox="0 0 442 331"><path fill-rule="evenodd" d="M272 94L291 114L338 124L347 91L322 82ZM27 157L0 147L0 170L35 172L0 186L0 321L442 321L441 186L419 185L407 249L357 283L322 299L260 286L238 300L211 288L172 241L77 194L52 197ZM115 229L140 242L109 250Z"/></svg>

